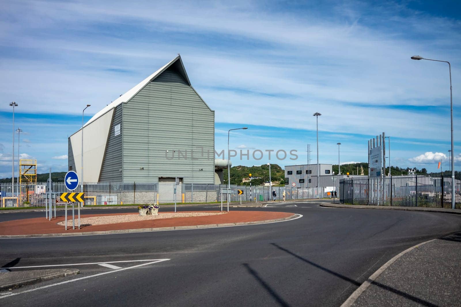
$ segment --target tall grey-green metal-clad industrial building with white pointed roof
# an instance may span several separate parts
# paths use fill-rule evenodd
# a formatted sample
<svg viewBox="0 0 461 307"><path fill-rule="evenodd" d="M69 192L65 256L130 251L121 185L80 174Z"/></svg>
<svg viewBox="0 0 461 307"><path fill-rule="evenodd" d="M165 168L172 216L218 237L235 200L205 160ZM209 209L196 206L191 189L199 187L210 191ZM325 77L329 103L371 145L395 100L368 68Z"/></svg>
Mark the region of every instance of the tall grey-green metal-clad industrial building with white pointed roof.
<svg viewBox="0 0 461 307"><path fill-rule="evenodd" d="M178 55L95 114L69 139L83 181L214 183L214 111Z"/></svg>

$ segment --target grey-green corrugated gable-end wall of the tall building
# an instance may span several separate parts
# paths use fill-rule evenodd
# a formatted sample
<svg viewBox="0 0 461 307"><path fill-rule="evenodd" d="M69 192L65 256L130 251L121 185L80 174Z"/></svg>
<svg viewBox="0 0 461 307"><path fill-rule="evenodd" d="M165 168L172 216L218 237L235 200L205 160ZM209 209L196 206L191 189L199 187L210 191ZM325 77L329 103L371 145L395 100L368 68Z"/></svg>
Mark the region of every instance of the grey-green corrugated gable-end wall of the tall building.
<svg viewBox="0 0 461 307"><path fill-rule="evenodd" d="M175 70L150 82L123 112L124 181L214 182L214 111Z"/></svg>

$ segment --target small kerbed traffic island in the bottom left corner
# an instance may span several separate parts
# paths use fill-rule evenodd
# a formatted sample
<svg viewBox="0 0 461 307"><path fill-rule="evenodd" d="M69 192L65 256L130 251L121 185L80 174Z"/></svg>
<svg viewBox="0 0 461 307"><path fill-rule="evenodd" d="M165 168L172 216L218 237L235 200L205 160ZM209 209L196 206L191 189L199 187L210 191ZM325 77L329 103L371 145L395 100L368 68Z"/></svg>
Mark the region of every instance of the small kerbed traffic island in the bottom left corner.
<svg viewBox="0 0 461 307"><path fill-rule="evenodd" d="M58 272L47 273L47 272L50 272L50 271L58 271ZM76 274L80 273L80 270L77 270L77 269L53 269L53 270L34 270L34 271L29 271L29 272L28 271L22 271L20 273L21 273L21 275L24 275L24 273L25 274L29 273L31 275L34 275L35 273L37 273L38 275L34 276L34 277L30 277L30 278L20 279L20 280L14 280L14 276L11 275L12 280L9 280L9 281L4 280L4 279L10 278L10 275L3 275L6 278L1 280L0 290L21 287L21 286L25 286L25 285L28 285L28 284L35 284L35 283L45 281L45 280L50 280L50 279L53 279L53 278L76 275ZM17 272L6 272L6 273L1 273L1 274L15 274L15 273L17 273ZM40 274L42 274L42 275L40 275Z"/></svg>

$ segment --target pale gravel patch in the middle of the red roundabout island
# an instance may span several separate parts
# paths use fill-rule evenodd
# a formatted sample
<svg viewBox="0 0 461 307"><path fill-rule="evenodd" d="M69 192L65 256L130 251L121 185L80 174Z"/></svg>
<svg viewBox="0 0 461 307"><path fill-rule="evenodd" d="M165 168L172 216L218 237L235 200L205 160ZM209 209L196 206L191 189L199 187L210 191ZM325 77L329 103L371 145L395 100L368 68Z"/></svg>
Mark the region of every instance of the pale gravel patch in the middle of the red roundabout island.
<svg viewBox="0 0 461 307"><path fill-rule="evenodd" d="M123 215L106 215L106 216L93 216L80 218L80 224L90 225L105 225L105 224L117 224L126 222L136 222L140 220L159 220L159 219L171 219L178 217L191 217L191 216L206 216L206 215L218 215L225 214L227 212L181 212L181 213L160 213L158 215L145 215L139 214L123 214ZM58 225L64 226L64 221L59 222ZM67 220L67 226L72 226L72 219Z"/></svg>

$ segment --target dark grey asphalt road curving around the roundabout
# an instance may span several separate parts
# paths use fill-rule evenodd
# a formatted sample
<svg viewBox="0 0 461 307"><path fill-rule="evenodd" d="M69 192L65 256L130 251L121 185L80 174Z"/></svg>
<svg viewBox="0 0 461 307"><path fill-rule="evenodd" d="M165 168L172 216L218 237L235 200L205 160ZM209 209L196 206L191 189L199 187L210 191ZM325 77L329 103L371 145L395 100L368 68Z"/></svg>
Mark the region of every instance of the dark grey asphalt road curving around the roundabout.
<svg viewBox="0 0 461 307"><path fill-rule="evenodd" d="M82 272L2 293L0 305L339 306L402 250L461 230L461 217L454 214L331 209L313 202L239 210L302 217L222 228L0 239L1 266L57 265ZM70 280L75 281L57 284Z"/></svg>

